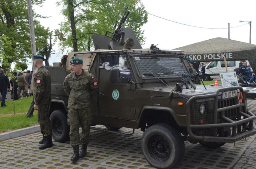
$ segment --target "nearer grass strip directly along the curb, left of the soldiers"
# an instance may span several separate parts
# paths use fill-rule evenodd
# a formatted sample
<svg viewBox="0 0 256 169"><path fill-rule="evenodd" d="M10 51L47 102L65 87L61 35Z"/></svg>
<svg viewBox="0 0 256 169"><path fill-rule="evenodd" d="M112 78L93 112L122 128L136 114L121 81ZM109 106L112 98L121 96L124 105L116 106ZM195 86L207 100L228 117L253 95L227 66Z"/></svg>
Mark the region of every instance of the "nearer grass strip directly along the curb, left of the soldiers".
<svg viewBox="0 0 256 169"><path fill-rule="evenodd" d="M26 114L14 114L13 116L0 117L0 121L0 133L38 124L37 112L33 113L32 118L27 118Z"/></svg>

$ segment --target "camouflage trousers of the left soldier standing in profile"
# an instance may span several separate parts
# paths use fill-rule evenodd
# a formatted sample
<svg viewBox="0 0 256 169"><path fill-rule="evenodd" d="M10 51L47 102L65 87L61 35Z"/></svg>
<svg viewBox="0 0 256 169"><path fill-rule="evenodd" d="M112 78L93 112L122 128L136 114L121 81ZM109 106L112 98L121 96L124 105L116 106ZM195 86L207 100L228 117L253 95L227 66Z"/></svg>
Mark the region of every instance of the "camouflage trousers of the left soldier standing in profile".
<svg viewBox="0 0 256 169"><path fill-rule="evenodd" d="M44 136L52 136L52 127L49 118L49 105L48 104L40 104L38 107L38 122L40 125L41 133Z"/></svg>

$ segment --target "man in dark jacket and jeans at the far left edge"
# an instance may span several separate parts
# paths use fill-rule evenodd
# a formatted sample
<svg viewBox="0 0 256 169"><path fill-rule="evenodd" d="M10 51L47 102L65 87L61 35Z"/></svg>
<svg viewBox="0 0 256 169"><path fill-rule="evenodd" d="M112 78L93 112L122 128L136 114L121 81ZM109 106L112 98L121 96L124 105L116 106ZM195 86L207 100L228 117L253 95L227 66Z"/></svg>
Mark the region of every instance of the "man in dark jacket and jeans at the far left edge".
<svg viewBox="0 0 256 169"><path fill-rule="evenodd" d="M4 75L4 69L0 68L0 93L2 95L1 107L6 106L7 88L10 89L10 82L7 76Z"/></svg>

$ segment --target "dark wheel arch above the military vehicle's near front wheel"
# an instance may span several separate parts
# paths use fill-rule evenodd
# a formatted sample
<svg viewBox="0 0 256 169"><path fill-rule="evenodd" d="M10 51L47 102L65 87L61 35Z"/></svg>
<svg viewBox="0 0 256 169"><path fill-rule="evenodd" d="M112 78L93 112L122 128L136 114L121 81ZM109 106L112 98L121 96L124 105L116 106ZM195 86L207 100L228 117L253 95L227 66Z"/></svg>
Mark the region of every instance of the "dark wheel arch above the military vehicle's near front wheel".
<svg viewBox="0 0 256 169"><path fill-rule="evenodd" d="M142 130L145 129L146 123L152 123L152 125L169 123L170 125L174 125L174 127L180 126L174 110L169 107L144 106L141 110L139 128Z"/></svg>

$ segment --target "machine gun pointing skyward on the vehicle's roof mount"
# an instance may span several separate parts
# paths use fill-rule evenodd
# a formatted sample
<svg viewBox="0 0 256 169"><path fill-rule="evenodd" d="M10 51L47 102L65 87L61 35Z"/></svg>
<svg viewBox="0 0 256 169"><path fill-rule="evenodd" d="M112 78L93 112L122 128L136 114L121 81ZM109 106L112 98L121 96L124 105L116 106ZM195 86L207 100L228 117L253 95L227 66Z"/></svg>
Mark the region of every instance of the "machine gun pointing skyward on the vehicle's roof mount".
<svg viewBox="0 0 256 169"><path fill-rule="evenodd" d="M124 44L124 35L125 35L125 32L122 31L122 24L126 21L126 18L128 17L128 15L130 14L130 11L128 11L128 7L126 7L125 9L125 12L124 12L124 15L122 16L122 20L121 22L119 23L119 25L117 26L117 29L115 29L114 32L110 32L110 31L106 31L106 36L111 38L112 40L117 40L119 41L121 39L121 44ZM112 37L110 37L108 35L108 33L111 33L113 34Z"/></svg>

